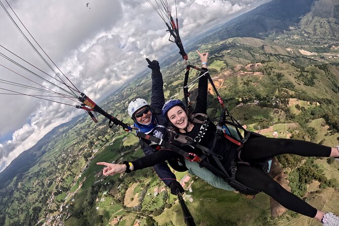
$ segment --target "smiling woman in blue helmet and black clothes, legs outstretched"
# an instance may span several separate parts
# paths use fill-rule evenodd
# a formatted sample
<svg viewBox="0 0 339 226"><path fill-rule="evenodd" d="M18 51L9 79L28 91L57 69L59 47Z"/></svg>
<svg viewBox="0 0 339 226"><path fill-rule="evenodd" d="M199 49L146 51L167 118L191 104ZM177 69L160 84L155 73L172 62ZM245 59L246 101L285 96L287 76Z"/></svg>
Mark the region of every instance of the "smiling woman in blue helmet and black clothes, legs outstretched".
<svg viewBox="0 0 339 226"><path fill-rule="evenodd" d="M198 51L197 51L198 52ZM207 67L208 53L199 53L202 61L202 66ZM281 154L295 154L306 157L339 157L338 147L328 147L312 142L281 139L281 138L267 138L255 137L248 139L238 152L238 146L228 139L216 139L216 126L208 120L206 116L207 111L207 85L208 79L203 76L199 79L198 95L196 107L193 115L187 115L187 110L183 102L180 100L169 100L162 108L162 114L172 127L174 132L171 136L171 142L188 153L194 153L197 156L202 156L205 149L212 149L218 160L208 156L208 161L211 165L221 167L231 174L232 162L242 161L247 163L258 163L265 161ZM198 115L197 115L198 114ZM197 120L198 123L197 123ZM199 123L204 122L204 123ZM198 145L181 145L182 141L177 137L189 137L197 141ZM154 165L159 161L164 161L168 158L173 158L178 155L171 150L161 150L153 155L142 157L131 162L131 170L142 169ZM105 165L103 170L104 175L113 175L115 173L124 172L126 165L114 165L98 163ZM219 167L219 168L221 168ZM247 164L237 164L235 179L245 186L257 190L271 196L277 202L287 209L294 212L314 217L318 219L323 225L339 226L339 217L331 212L322 212L312 207L302 199L286 191L278 182L273 180L267 173L261 169L252 167Z"/></svg>

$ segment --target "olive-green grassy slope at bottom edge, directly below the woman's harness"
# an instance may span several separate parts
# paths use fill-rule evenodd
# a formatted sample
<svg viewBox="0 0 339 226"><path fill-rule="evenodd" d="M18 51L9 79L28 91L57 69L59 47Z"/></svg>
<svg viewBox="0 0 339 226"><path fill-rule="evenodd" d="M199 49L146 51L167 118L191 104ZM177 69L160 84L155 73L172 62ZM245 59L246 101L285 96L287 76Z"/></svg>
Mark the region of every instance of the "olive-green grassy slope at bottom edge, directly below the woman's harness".
<svg viewBox="0 0 339 226"><path fill-rule="evenodd" d="M255 225L260 221L265 222L270 215L269 197L263 194L248 200L234 192L216 189L198 179L193 183L193 193L190 195L194 201L186 201L186 204L198 225ZM155 219L160 225L168 219L174 225L182 225L179 208L176 204Z"/></svg>

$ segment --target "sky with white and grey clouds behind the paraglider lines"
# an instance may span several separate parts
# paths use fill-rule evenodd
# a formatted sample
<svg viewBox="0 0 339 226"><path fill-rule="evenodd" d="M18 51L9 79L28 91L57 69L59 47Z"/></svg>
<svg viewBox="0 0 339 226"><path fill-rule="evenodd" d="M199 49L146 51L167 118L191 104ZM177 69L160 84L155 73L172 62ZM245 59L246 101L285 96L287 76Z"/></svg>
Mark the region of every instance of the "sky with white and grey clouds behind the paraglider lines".
<svg viewBox="0 0 339 226"><path fill-rule="evenodd" d="M195 37L214 25L269 1L177 0L181 39L184 41ZM53 62L74 86L94 101L106 97L147 69L146 57L162 59L177 48L168 42L169 33L166 32L164 21L146 0L0 2L15 17L7 3L10 4ZM174 7L174 1L171 2ZM175 8L172 8L173 12ZM19 24L18 20L16 22ZM24 30L24 27L21 26L21 29ZM16 62L27 65L3 47L52 75L48 77L36 68L27 66L55 82L51 69L34 52L2 7L0 45L0 81L31 86L33 83L43 84L51 88L4 57L11 56ZM1 88L26 94L36 93L4 83L0 83L0 93L12 93ZM23 95L0 94L0 101L3 103L0 117L0 172L54 127L83 114L82 110L72 106ZM68 99L63 102L70 103Z"/></svg>

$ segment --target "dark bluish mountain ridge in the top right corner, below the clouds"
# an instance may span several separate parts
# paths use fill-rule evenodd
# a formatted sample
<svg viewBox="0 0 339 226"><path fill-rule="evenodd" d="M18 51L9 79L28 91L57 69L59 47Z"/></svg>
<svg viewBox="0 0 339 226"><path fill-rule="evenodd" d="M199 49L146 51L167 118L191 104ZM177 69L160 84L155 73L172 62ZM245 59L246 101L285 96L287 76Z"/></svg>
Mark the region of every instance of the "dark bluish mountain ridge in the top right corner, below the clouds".
<svg viewBox="0 0 339 226"><path fill-rule="evenodd" d="M328 26L316 27L312 24L315 17L326 21ZM314 36L325 32L332 39L337 39L338 24L338 0L273 0L224 23L219 30L196 44L237 36L262 38L270 33L282 33L298 26L307 34Z"/></svg>

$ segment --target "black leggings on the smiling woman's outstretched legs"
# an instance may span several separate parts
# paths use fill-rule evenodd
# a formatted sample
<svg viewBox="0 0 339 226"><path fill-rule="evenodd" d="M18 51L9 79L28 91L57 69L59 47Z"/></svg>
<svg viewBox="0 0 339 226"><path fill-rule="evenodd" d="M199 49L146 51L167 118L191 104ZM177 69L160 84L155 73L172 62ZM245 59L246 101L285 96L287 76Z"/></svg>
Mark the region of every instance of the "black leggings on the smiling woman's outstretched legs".
<svg viewBox="0 0 339 226"><path fill-rule="evenodd" d="M330 147L312 142L258 137L250 139L244 144L240 158L245 162L260 162L281 154L329 157L330 153ZM240 164L237 167L236 180L251 189L266 193L289 210L309 217L315 217L317 213L314 207L286 191L284 187L260 169Z"/></svg>

